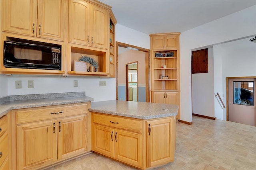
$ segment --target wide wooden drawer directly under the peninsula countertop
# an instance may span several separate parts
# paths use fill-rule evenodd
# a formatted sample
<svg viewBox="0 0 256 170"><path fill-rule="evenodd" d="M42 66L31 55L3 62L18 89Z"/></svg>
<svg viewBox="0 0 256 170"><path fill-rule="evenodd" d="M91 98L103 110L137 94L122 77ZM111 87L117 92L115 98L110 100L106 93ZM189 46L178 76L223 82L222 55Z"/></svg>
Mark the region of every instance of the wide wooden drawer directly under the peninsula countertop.
<svg viewBox="0 0 256 170"><path fill-rule="evenodd" d="M93 114L93 122L109 127L142 133L142 121L109 115Z"/></svg>

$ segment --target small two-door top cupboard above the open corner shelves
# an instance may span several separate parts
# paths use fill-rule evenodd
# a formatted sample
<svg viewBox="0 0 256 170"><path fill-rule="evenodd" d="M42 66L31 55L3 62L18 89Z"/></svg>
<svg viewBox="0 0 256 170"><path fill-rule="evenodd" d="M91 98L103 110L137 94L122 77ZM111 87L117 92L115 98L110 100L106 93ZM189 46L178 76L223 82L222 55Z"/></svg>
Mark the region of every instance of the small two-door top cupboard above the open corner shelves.
<svg viewBox="0 0 256 170"><path fill-rule="evenodd" d="M175 49L177 48L176 35L156 36L152 37L153 50Z"/></svg>

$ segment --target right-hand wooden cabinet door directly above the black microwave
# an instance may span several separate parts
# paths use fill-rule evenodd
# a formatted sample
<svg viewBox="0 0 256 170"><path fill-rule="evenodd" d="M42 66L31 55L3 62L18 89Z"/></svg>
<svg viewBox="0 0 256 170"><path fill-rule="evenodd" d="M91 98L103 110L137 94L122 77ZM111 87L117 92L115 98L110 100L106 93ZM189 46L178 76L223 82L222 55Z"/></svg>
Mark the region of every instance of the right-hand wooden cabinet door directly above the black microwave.
<svg viewBox="0 0 256 170"><path fill-rule="evenodd" d="M63 41L64 10L64 0L39 0L37 36Z"/></svg>

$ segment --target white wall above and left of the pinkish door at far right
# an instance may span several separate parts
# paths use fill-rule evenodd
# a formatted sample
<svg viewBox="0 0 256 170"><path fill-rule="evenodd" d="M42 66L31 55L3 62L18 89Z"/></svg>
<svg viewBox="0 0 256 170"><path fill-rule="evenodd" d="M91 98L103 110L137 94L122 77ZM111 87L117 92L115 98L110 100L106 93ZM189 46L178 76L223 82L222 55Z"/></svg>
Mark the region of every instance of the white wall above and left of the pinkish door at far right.
<svg viewBox="0 0 256 170"><path fill-rule="evenodd" d="M250 38L219 45L222 55L223 101L226 105L226 77L256 76L256 43ZM226 109L223 109L226 120Z"/></svg>

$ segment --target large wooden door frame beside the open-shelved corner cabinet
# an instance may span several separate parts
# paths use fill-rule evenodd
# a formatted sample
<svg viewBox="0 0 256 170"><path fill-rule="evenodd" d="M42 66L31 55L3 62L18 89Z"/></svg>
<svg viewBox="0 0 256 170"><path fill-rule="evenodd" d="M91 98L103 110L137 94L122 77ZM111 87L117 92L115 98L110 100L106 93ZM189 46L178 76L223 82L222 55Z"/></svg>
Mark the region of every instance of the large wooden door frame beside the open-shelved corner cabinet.
<svg viewBox="0 0 256 170"><path fill-rule="evenodd" d="M150 102L150 50L126 43L116 41L116 100L118 100L118 47L132 48L138 51L145 52L145 67L146 67L146 102Z"/></svg>

